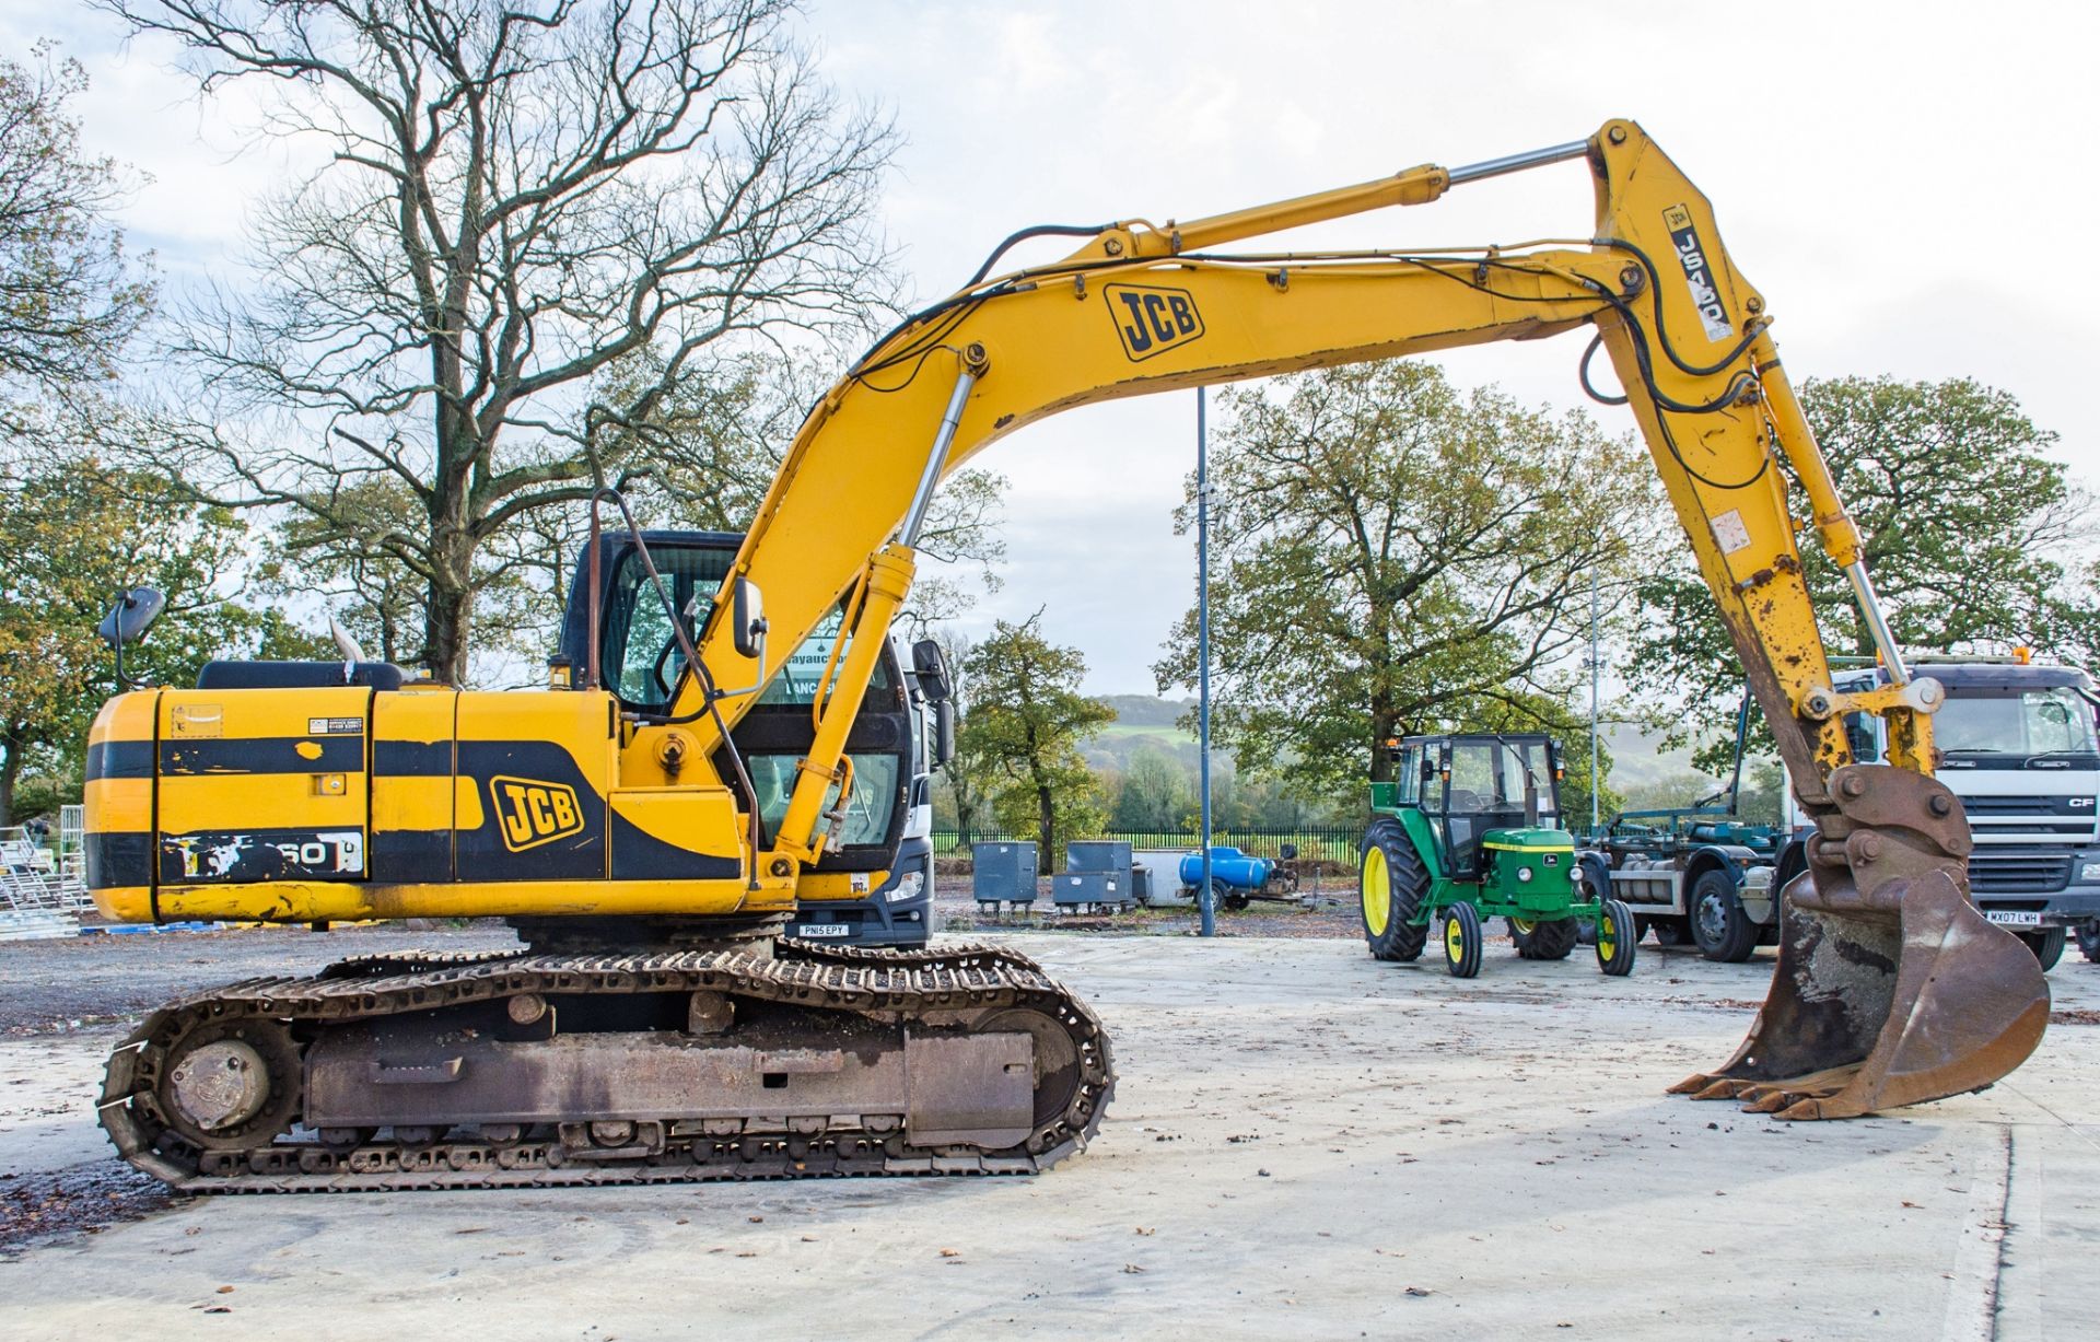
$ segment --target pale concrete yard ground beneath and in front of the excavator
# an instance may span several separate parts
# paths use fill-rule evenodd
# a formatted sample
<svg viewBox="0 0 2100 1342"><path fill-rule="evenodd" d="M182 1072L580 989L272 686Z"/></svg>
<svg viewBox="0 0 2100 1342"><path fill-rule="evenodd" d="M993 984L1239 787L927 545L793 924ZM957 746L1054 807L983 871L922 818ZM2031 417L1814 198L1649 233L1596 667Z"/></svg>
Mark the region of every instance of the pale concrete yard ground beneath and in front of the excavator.
<svg viewBox="0 0 2100 1342"><path fill-rule="evenodd" d="M1453 981L1348 941L1014 941L1098 1006L1121 1077L1048 1176L149 1203L0 1260L0 1338L1966 1340L2100 1317L2100 966L2077 956L1997 1088L1789 1126L1661 1094L1728 1056L1768 960L1642 947L1602 979L1491 945ZM0 1176L111 1176L86 1096L118 1033L0 1040Z"/></svg>

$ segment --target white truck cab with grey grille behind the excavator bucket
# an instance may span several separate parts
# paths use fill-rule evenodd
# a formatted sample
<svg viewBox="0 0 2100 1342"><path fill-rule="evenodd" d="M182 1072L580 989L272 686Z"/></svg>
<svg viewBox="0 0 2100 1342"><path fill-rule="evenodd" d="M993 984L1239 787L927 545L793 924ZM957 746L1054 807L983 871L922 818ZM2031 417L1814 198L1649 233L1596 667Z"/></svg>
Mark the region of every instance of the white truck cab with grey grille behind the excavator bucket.
<svg viewBox="0 0 2100 1342"><path fill-rule="evenodd" d="M1947 687L1932 741L1942 756L1938 777L1976 830L1976 907L2026 941L2045 970L2073 935L2085 958L2100 962L2100 695L2092 676L2024 655L1919 657L1913 672ZM1871 689L1886 676L1880 668L1835 670L1833 683L1840 691ZM1846 733L1854 758L1884 758L1880 718L1854 714Z"/></svg>

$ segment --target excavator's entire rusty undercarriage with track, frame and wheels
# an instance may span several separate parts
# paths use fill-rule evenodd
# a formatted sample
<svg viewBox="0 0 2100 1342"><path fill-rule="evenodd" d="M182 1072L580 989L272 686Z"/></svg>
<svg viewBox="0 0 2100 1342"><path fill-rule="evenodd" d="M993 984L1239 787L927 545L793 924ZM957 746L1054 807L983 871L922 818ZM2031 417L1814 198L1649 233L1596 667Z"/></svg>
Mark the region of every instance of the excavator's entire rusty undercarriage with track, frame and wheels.
<svg viewBox="0 0 2100 1342"><path fill-rule="evenodd" d="M111 1054L101 1121L185 1193L1035 1174L1113 1086L1025 956L754 941L225 985Z"/></svg>

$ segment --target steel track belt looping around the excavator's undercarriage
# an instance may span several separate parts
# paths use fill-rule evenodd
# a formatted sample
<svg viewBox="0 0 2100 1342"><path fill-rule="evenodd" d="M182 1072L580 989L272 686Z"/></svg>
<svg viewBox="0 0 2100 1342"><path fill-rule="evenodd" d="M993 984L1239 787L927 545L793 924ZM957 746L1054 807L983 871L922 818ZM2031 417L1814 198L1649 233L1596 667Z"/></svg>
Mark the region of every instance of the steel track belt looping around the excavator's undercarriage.
<svg viewBox="0 0 2100 1342"><path fill-rule="evenodd" d="M991 945L926 951L830 947L781 939L773 958L739 949L630 956L538 956L531 951L407 951L342 960L307 979L248 979L178 998L155 1010L109 1056L101 1124L118 1153L183 1193L357 1193L397 1189L592 1187L695 1180L813 1178L853 1174L1037 1174L1086 1142L1115 1092L1100 1019L1027 956ZM565 1151L559 1140L491 1142L479 1136L403 1145L323 1145L292 1126L252 1147L200 1149L162 1111L160 1084L170 1050L210 1023L229 1019L349 1025L401 1012L491 1002L517 993L691 993L716 991L800 1008L886 1021L928 1012L1027 1008L1060 1023L1079 1077L1069 1103L1004 1151L914 1147L899 1115L857 1121L779 1124L754 1119L666 1121L676 1132L647 1157Z"/></svg>

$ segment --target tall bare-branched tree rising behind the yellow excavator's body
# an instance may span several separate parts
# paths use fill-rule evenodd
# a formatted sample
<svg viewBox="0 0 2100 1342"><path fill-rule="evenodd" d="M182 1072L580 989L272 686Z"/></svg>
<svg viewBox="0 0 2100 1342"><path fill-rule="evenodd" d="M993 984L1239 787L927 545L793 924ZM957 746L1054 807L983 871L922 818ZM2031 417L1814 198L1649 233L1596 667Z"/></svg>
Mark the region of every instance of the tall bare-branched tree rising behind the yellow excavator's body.
<svg viewBox="0 0 2100 1342"><path fill-rule="evenodd" d="M890 128L815 78L785 0L97 2L206 95L281 82L262 134L332 145L256 216L254 284L185 315L202 414L164 464L342 536L342 500L405 487L386 548L439 678L491 536L653 477L630 428L724 351L888 307Z"/></svg>

